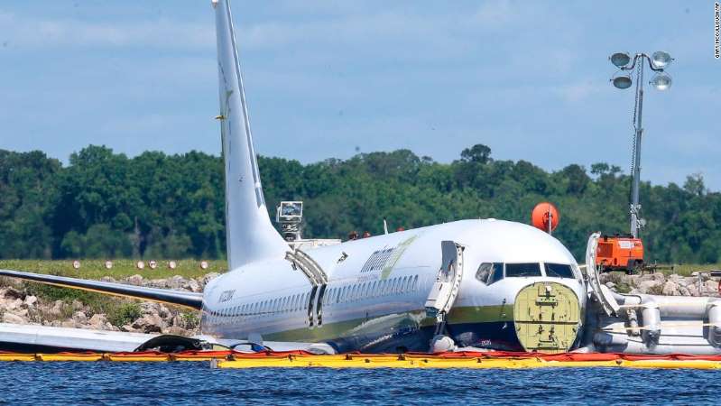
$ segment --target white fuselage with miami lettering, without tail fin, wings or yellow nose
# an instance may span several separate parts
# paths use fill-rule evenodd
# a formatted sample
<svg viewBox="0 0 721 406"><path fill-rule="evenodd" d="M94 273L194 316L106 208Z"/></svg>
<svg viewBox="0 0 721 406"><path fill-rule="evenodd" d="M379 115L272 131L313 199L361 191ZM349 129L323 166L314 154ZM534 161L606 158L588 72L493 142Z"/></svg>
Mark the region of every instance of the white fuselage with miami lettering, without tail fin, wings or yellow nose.
<svg viewBox="0 0 721 406"><path fill-rule="evenodd" d="M415 333L433 324L424 304L439 274L444 240L465 247L464 272L458 300L449 313L449 329L462 324L477 330L499 321L483 310L508 306L512 312L518 291L535 281L568 286L581 309L585 307L578 264L558 240L520 223L464 220L309 251L328 274L319 303L310 300L310 281L286 259L249 263L227 272L208 283L202 332L226 340L261 335L274 341L327 342L342 350L388 350L396 342L415 348L409 341L427 344L425 336L416 340L420 336ZM543 263L568 264L574 278L553 278L543 272L486 284L476 278L481 263L541 263L541 269ZM316 292L317 300L318 296ZM473 334L466 330L457 328L454 333L461 341L472 337L463 344L495 346L487 337L497 332L489 331L484 337L483 328ZM507 340L502 341L498 347L507 347Z"/></svg>

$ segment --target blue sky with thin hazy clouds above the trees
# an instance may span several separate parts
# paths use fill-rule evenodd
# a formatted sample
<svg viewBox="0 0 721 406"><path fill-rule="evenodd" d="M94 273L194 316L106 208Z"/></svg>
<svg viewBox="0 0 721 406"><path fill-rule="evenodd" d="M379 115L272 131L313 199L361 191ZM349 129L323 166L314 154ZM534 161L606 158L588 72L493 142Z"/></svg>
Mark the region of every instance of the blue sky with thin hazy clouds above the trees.
<svg viewBox="0 0 721 406"><path fill-rule="evenodd" d="M714 2L232 2L256 151L301 162L484 143L548 171L629 171L615 51L668 51L646 85L642 178L721 190ZM646 69L646 82L652 77ZM218 154L210 0L0 4L0 149Z"/></svg>

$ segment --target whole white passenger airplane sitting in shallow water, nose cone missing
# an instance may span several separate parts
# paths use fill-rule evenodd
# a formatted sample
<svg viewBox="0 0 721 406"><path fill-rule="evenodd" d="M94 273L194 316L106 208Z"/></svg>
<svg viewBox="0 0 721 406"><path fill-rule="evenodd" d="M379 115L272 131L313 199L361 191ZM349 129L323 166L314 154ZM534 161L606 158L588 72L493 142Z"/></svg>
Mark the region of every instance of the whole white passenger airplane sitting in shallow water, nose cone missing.
<svg viewBox="0 0 721 406"><path fill-rule="evenodd" d="M212 0L226 177L228 272L202 293L11 270L26 281L155 300L201 312L199 337L0 326L0 348L108 351L222 345L342 353L579 345L587 285L578 263L533 226L467 219L301 249L263 198L228 0ZM131 337L132 336L132 337ZM189 344L190 343L190 344Z"/></svg>

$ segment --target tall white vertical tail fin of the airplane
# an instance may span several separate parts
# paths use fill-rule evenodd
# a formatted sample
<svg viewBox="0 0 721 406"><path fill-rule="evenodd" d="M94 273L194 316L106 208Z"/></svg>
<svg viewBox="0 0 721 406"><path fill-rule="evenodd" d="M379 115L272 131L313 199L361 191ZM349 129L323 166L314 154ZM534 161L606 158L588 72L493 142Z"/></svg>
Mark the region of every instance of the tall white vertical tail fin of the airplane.
<svg viewBox="0 0 721 406"><path fill-rule="evenodd" d="M248 121L243 76L227 0L213 0L216 13L220 120L226 167L226 247L230 270L279 257L289 250L265 207Z"/></svg>

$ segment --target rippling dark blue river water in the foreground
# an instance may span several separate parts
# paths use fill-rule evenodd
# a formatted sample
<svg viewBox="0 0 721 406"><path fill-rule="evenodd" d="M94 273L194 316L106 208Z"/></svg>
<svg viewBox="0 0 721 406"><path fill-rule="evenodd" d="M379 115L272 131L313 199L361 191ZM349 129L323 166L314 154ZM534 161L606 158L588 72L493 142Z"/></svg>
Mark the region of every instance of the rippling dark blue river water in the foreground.
<svg viewBox="0 0 721 406"><path fill-rule="evenodd" d="M0 404L707 404L721 372L210 369L208 363L0 363Z"/></svg>

